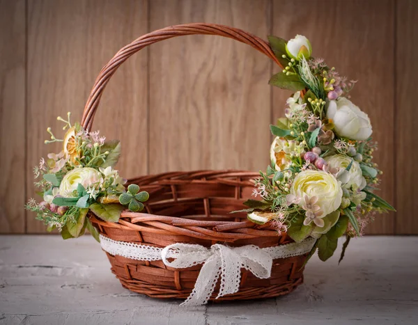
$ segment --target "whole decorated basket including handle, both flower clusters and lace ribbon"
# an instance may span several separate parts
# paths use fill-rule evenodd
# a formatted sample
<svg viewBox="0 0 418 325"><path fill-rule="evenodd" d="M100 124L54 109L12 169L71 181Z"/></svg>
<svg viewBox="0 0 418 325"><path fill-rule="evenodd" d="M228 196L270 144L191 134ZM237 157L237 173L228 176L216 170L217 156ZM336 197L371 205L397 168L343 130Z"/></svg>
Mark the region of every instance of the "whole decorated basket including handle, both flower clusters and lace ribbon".
<svg viewBox="0 0 418 325"><path fill-rule="evenodd" d="M157 42L193 33L223 35L247 42L283 68L274 74L270 84L295 92L287 100L286 117L279 118L277 125L270 126L272 134L276 136L270 150L271 165L266 173L260 172L252 183L255 199L240 201L247 208L230 210L233 214L222 217L224 219L212 216L215 207L210 207L210 200L217 196L212 187L208 194L202 195L203 215L190 221L167 216L178 212L181 215L181 209L185 211L199 204L185 200L180 205L181 211L176 212L165 203L169 199L167 193L173 196L173 202L177 204L180 202L180 192L176 191L176 185L187 184L190 189L200 189L205 186L203 181L213 184L209 183L211 173L187 174L190 179L180 176L180 173L138 179L138 182L146 185L146 189L150 189L148 194L148 191L141 191L134 181L126 186L127 181L114 169L121 154L119 141L106 141L99 132L89 129L104 86L127 57L150 44L150 40ZM334 68L329 68L323 59L312 57L307 38L296 35L286 42L270 36L268 40L269 44L249 33L226 26L189 24L150 33L121 49L103 68L96 81L84 111L83 125L72 124L68 113L67 119L58 118L66 130L63 139L56 138L52 130L47 129L51 139L45 143L61 142L62 150L58 154L48 154L47 159L40 159L39 165L34 168L38 179L35 184L43 200L37 203L31 199L26 208L36 212L37 219L43 221L49 231L58 229L63 239L79 237L86 228L95 239L102 239L102 248L108 253L114 266L112 269L123 285L131 290L159 297L185 297L190 294L186 301L189 305L213 299L219 276L222 280L217 297L224 299L226 294L237 294L238 291L241 294L238 299L248 299L256 294L275 296L287 293L301 282L297 280L289 284L290 279L317 249L320 259L327 260L336 249L337 239L346 235L341 260L350 238L362 235L376 212L394 211L391 205L373 193L382 171L372 162L377 144L371 139L371 122L367 114L349 100L348 93L355 81L346 81ZM219 181L224 187L231 184L236 187L233 194L235 200L244 198L242 188L251 185L242 182L244 175L242 172L228 172L225 177L238 177L238 183L229 178ZM198 176L201 181L194 179ZM164 177L173 181L168 182ZM158 187L155 185L157 183ZM191 195L189 187L187 191L184 190L186 192L185 197ZM226 190L222 189L222 195L224 192ZM157 201L157 196L162 196L164 202L158 203L163 216L151 214L151 203L153 198ZM232 209L240 206L236 203L228 205L213 198L214 202L219 205L222 202ZM132 213L140 212L144 206L149 214ZM220 206L217 209L224 211ZM197 207L195 210L203 211ZM251 222L242 220L242 216L247 216ZM221 218L220 221L217 218ZM235 223L224 221L225 218L235 220ZM175 226L179 227L178 232L173 229ZM132 242L135 236L123 235L127 234L127 230L137 232L138 242L144 244ZM145 240L148 232L161 234L162 237L177 234L178 241L185 243L176 244L176 237L167 239L174 241L172 245L162 244L157 239L150 239L149 243L153 244L148 244ZM111 239L111 234L115 234L118 240ZM187 236L192 239L187 239ZM238 246L236 248L218 244L250 239L255 241L263 236L281 239L271 246L261 241L256 246L233 244ZM194 240L203 246L194 244ZM212 243L212 247L206 248L209 243ZM291 244L284 245L286 243ZM286 276L286 280L281 279L281 282L270 280L266 285L256 282L258 279L271 279L273 274L279 274L277 277L280 278L286 269L283 263L292 256L300 255L303 255L302 261L297 263L302 264L297 264L297 269L293 264L290 278ZM135 264L133 271L132 261L123 261L125 264L121 268L118 256L146 262ZM160 260L164 264L150 264L150 261ZM193 269L202 263L200 274L194 275L194 290L191 290L193 286L188 287L187 280L182 280L178 271L173 271L175 286L172 290L168 290L167 285L164 287L165 284L159 283L160 279L156 278L154 286L160 285L165 291L161 288L160 292L153 291L153 279L141 278L141 274L136 275L138 279L134 282L134 272L139 272L139 265L181 270ZM121 271L123 268L125 270ZM272 269L281 273L272 272ZM243 285L241 270L254 275L252 284L249 281L249 288ZM127 276L121 275L125 271ZM298 279L301 277L300 274ZM261 291L257 286L265 288Z"/></svg>

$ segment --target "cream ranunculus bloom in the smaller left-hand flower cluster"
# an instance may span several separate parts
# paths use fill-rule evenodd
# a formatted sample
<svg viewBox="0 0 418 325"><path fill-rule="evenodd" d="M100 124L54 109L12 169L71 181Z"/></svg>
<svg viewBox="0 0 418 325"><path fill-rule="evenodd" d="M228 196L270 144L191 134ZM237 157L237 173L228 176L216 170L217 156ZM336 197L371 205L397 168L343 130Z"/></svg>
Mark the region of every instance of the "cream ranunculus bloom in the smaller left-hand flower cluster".
<svg viewBox="0 0 418 325"><path fill-rule="evenodd" d="M72 196L72 192L77 189L78 184L82 184L84 189L87 189L98 182L100 182L100 173L94 168L75 168L63 177L59 193L61 196L69 198Z"/></svg>

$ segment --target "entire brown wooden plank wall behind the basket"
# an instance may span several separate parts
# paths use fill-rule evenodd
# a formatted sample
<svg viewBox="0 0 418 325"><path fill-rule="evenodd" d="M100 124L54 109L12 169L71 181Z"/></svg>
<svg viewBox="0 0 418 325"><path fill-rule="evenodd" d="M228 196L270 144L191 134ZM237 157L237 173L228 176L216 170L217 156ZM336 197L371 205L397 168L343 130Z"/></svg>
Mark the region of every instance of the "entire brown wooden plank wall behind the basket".
<svg viewBox="0 0 418 325"><path fill-rule="evenodd" d="M56 116L79 119L102 65L127 42L164 26L214 22L262 38L306 35L314 56L358 79L353 101L369 113L398 212L371 234L418 234L418 1L414 0L0 0L0 233L42 233L24 212L32 167L57 150L42 141ZM187 36L136 54L104 92L95 129L123 141L125 177L198 168L257 171L268 164L270 122L286 93L277 68L233 40ZM129 154L127 154L129 152Z"/></svg>

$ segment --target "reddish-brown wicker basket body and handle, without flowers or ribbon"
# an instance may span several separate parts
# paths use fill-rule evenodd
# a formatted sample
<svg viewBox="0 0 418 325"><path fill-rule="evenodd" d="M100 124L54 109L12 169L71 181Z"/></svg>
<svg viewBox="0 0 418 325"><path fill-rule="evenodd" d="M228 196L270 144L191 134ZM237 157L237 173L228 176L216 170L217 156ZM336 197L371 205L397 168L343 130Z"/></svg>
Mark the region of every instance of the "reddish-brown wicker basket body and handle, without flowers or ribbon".
<svg viewBox="0 0 418 325"><path fill-rule="evenodd" d="M171 26L134 40L123 47L104 66L95 81L84 109L82 125L91 129L102 92L117 68L135 52L155 42L180 35L207 34L233 38L254 47L279 64L267 42L239 29L216 24ZM118 223L109 223L91 214L100 234L116 241L164 247L178 242L210 247L217 243L229 246L254 244L261 248L290 243L286 234L278 235L270 225L247 221L245 213L229 214L242 209L251 196L253 180L258 173L247 171L194 171L162 173L130 180L150 193L147 213L125 211ZM201 265L187 269L171 269L162 261L131 260L107 253L111 270L123 287L156 298L189 296ZM218 300L254 299L280 296L291 292L303 280L305 255L273 261L268 279L256 278L242 269L240 290ZM218 287L211 297L215 299Z"/></svg>

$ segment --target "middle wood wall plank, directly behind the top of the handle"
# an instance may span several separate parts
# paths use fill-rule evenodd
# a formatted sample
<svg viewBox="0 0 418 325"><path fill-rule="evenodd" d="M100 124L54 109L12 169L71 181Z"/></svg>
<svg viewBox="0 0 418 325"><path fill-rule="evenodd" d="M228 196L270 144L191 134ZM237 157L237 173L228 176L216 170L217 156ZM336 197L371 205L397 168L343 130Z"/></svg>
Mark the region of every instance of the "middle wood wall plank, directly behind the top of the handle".
<svg viewBox="0 0 418 325"><path fill-rule="evenodd" d="M151 1L150 29L228 24L265 38L270 1ZM239 42L193 35L150 47L150 172L268 164L270 61Z"/></svg>

